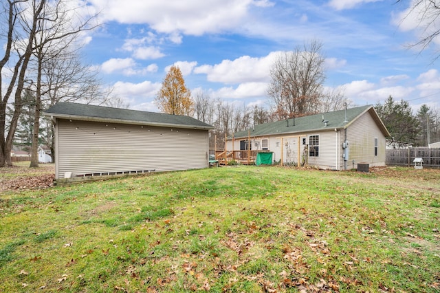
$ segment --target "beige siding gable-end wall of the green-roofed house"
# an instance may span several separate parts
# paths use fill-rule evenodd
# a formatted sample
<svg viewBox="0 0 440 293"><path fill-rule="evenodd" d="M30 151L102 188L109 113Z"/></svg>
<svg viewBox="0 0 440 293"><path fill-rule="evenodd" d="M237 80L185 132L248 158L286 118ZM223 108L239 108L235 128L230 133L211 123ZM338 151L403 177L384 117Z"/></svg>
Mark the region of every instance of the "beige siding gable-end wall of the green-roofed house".
<svg viewBox="0 0 440 293"><path fill-rule="evenodd" d="M378 140L377 155L374 153L375 138ZM384 166L386 138L371 115L364 113L347 128L347 140L350 148L349 169L357 168L358 163Z"/></svg>

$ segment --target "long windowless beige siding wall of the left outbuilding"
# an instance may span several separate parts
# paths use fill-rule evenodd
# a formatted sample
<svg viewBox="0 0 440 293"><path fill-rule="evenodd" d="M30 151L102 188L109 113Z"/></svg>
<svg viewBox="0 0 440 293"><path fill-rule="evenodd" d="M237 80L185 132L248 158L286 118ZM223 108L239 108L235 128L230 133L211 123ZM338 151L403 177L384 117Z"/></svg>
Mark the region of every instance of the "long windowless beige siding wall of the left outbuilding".
<svg viewBox="0 0 440 293"><path fill-rule="evenodd" d="M208 131L56 120L56 177L208 167Z"/></svg>

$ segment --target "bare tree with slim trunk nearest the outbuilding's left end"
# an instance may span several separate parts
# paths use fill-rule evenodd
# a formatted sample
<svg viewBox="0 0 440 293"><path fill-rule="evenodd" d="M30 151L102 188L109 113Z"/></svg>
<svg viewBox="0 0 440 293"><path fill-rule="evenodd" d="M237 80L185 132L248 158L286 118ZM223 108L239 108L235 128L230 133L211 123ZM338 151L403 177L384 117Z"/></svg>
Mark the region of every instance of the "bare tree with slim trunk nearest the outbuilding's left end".
<svg viewBox="0 0 440 293"><path fill-rule="evenodd" d="M33 0L36 3L37 0ZM43 3L43 8L40 12L40 16L36 23L36 28L28 27L28 32L33 34L33 56L35 68L33 73L36 74L36 80L33 81L35 89L35 112L34 112L34 131L32 133L32 147L31 147L31 162L30 167L39 166L39 129L40 129L40 111L42 108L42 98L50 91L60 92L60 81L64 83L64 88L67 92L72 91L72 76L78 80L78 75L83 75L83 68L80 66L63 68L65 71L60 72L58 68L53 65L56 60L72 60L70 54L72 54L72 47L77 47L76 36L80 32L85 30L92 30L96 26L90 25L94 17L87 17L85 19L75 19L72 16L76 15L76 9L68 8L65 1L57 0ZM58 62L59 63L59 62ZM48 69L44 69L46 67ZM78 63L77 63L78 64ZM51 66L52 65L52 66ZM50 71L52 69L52 71ZM79 69L79 71L78 71ZM72 71L73 70L73 71ZM53 76L54 73L58 73L58 76ZM87 71L86 71L87 72ZM54 84L50 83L51 80L57 80L57 88L54 88ZM90 85L89 80L82 80L83 83ZM66 85L68 84L68 85ZM76 85L76 84L74 84ZM77 97L78 90L74 87L73 90ZM56 96L59 98L59 95Z"/></svg>

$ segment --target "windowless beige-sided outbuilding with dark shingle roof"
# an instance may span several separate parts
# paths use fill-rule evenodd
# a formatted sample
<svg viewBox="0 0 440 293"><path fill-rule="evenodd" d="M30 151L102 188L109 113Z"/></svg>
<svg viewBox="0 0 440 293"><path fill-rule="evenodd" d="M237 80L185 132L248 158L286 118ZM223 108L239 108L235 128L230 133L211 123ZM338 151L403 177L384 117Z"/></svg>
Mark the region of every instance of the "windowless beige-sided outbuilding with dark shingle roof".
<svg viewBox="0 0 440 293"><path fill-rule="evenodd" d="M188 116L59 102L55 177L95 177L208 167L208 131Z"/></svg>

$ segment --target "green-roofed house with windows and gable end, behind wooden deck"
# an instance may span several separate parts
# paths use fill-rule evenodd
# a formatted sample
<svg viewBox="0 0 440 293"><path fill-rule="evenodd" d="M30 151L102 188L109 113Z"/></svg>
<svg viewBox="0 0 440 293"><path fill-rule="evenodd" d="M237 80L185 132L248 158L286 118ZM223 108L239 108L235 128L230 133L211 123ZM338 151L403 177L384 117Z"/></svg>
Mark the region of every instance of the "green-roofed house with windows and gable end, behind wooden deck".
<svg viewBox="0 0 440 293"><path fill-rule="evenodd" d="M272 151L274 162L320 169L384 166L390 136L371 105L255 125L228 138L230 150Z"/></svg>

